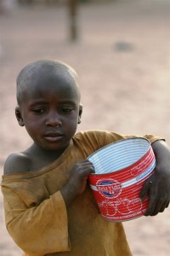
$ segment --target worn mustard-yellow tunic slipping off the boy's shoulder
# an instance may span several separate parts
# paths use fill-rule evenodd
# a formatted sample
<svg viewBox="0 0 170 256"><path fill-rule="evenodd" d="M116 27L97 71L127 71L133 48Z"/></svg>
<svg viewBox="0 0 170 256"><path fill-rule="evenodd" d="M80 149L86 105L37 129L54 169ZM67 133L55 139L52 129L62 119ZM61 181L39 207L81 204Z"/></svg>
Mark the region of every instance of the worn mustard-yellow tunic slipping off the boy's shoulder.
<svg viewBox="0 0 170 256"><path fill-rule="evenodd" d="M150 139L150 143L159 139L144 137ZM89 186L68 209L59 192L75 163L122 138L127 136L106 131L78 132L52 164L32 172L3 176L6 226L27 255L132 255L122 223L101 217Z"/></svg>

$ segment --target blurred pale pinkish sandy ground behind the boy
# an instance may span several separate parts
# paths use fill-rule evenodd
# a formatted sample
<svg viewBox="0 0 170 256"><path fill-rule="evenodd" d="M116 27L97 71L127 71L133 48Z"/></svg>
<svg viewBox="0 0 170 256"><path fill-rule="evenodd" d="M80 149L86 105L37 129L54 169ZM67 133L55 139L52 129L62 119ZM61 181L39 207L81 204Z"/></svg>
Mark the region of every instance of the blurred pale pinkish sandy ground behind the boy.
<svg viewBox="0 0 170 256"><path fill-rule="evenodd" d="M69 40L64 5L16 7L0 15L0 174L8 154L31 143L14 118L16 75L42 58L66 61L79 73L79 130L152 133L170 145L169 7L168 0L83 4L76 43ZM4 228L2 194L0 221L0 256L20 255ZM124 226L134 256L170 255L170 208Z"/></svg>

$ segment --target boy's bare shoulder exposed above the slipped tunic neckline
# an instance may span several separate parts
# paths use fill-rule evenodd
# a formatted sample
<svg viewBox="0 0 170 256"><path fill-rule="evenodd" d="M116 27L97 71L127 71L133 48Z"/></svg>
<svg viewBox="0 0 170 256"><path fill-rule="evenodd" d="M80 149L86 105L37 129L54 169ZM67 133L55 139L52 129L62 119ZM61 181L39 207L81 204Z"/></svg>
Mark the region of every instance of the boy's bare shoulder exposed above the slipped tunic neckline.
<svg viewBox="0 0 170 256"><path fill-rule="evenodd" d="M9 154L7 160L5 161L3 174L14 174L29 172L31 165L31 160L27 154L14 153Z"/></svg>

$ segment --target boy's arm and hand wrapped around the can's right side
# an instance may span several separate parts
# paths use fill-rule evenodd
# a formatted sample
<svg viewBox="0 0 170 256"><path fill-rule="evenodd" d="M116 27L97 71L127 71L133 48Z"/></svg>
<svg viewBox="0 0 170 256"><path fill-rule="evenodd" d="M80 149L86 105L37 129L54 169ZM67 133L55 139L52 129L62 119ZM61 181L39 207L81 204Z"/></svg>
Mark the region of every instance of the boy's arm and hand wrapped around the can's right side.
<svg viewBox="0 0 170 256"><path fill-rule="evenodd" d="M170 201L170 149L163 140L151 144L156 155L156 169L144 183L140 198L150 195L150 203L145 216L155 216L163 212Z"/></svg>

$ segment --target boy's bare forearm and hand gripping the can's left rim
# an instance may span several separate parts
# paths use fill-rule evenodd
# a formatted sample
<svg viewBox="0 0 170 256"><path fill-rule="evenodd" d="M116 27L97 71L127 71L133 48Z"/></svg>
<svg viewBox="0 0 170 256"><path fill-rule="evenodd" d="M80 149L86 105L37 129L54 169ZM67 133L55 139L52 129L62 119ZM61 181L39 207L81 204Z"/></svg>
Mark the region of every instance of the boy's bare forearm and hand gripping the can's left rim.
<svg viewBox="0 0 170 256"><path fill-rule="evenodd" d="M69 206L77 195L82 194L90 173L94 173L94 165L89 160L82 160L72 168L68 183L61 189L66 206Z"/></svg>

